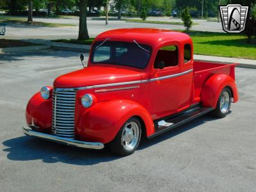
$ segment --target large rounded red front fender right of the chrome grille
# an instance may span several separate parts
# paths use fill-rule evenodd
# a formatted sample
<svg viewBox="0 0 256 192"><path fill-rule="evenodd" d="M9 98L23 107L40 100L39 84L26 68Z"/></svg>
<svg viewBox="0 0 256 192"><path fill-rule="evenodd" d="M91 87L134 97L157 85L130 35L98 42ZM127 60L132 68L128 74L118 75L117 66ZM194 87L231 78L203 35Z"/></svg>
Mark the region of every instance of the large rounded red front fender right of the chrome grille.
<svg viewBox="0 0 256 192"><path fill-rule="evenodd" d="M76 135L85 141L109 143L132 116L140 116L147 136L154 133L152 118L143 106L131 100L109 100L84 111L77 122Z"/></svg>

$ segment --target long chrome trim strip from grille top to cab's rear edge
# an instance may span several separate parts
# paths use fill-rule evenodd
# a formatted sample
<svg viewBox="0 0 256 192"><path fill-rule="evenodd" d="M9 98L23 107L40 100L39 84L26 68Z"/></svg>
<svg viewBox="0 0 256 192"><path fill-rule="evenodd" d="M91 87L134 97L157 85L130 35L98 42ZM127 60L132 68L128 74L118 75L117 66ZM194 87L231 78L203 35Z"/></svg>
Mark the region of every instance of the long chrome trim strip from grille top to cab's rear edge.
<svg viewBox="0 0 256 192"><path fill-rule="evenodd" d="M78 88L56 88L56 90L58 92L70 92L70 91L74 92L74 91L77 91L77 90L88 90L88 89L92 89L92 88L103 88L103 87L108 87L108 86L120 86L120 85L127 85L127 84L148 83L148 82L151 82L151 81L158 81L158 80L183 76L183 75L189 74L190 72L193 72L193 68L190 69L190 70L186 70L186 71L184 71L182 73L179 73L179 74L157 77L157 78L152 78L152 79L147 79L147 80L142 80L142 81L127 81L127 82L122 82L122 83L97 84L97 85L94 85L94 86L84 86L84 87L78 87Z"/></svg>

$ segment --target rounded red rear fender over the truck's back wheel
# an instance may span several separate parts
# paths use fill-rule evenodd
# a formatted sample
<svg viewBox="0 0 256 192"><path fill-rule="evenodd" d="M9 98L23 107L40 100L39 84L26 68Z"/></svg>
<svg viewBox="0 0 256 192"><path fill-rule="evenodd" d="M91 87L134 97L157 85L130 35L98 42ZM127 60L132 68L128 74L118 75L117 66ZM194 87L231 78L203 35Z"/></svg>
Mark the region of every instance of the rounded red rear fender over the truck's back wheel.
<svg viewBox="0 0 256 192"><path fill-rule="evenodd" d="M214 74L209 79L207 79L202 88L202 105L204 107L216 108L220 93L226 86L231 89L234 102L237 102L238 92L235 80L225 74Z"/></svg>

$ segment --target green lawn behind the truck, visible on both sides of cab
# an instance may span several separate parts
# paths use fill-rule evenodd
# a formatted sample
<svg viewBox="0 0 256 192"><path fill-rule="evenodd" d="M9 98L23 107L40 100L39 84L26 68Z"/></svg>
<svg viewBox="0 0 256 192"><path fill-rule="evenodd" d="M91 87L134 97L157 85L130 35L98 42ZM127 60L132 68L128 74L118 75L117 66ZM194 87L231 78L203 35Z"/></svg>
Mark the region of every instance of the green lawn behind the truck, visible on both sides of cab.
<svg viewBox="0 0 256 192"><path fill-rule="evenodd" d="M246 44L246 36L242 34L202 31L191 31L188 34L193 39L194 54L256 60L256 40L252 44ZM84 41L54 40L54 42L86 45L92 44L92 41L93 38Z"/></svg>

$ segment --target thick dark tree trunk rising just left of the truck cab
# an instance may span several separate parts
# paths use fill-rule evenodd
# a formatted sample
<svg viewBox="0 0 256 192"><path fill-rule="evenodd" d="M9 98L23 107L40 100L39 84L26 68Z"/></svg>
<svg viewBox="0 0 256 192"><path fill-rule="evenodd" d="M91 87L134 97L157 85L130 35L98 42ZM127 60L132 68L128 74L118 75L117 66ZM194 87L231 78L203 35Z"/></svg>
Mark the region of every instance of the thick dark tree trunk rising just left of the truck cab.
<svg viewBox="0 0 256 192"><path fill-rule="evenodd" d="M79 0L79 35L77 40L89 39L86 13L87 13L87 0Z"/></svg>

